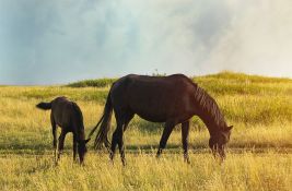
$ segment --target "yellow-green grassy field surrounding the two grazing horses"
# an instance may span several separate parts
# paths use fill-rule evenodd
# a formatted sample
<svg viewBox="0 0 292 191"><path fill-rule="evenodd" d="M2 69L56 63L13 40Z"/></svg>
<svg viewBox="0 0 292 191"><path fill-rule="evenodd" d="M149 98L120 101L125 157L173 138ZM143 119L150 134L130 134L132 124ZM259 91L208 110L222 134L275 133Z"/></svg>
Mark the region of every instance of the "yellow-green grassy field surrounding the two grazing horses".
<svg viewBox="0 0 292 191"><path fill-rule="evenodd" d="M291 190L292 80L231 72L194 77L234 126L224 164L211 156L209 134L198 118L191 122L191 164L187 165L179 127L156 159L163 124L136 117L125 134L126 167L119 157L113 165L105 151L93 151L93 142L85 166L74 164L71 135L55 166L49 111L35 105L68 96L80 105L89 133L102 115L113 81L0 86L0 190Z"/></svg>

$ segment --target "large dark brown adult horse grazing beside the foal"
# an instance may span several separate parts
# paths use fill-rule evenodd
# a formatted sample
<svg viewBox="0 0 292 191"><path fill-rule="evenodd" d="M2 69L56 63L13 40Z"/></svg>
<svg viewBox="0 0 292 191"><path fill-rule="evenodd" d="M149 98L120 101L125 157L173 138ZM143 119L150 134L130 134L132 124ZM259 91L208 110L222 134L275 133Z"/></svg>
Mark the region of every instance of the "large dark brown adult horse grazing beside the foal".
<svg viewBox="0 0 292 191"><path fill-rule="evenodd" d="M107 133L113 109L117 128L113 133L110 146ZM196 115L202 119L209 130L209 146L213 154L218 153L222 159L225 157L224 146L230 140L232 127L227 127L215 100L183 74L170 76L130 74L116 81L108 93L104 114L90 133L91 136L101 123L95 139L95 148L103 143L107 148L110 146L110 159L113 159L118 145L121 162L125 165L122 134L135 114L148 121L165 122L157 156L165 147L174 127L182 123L184 157L189 163L189 120Z"/></svg>

